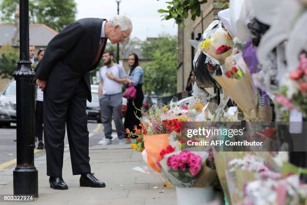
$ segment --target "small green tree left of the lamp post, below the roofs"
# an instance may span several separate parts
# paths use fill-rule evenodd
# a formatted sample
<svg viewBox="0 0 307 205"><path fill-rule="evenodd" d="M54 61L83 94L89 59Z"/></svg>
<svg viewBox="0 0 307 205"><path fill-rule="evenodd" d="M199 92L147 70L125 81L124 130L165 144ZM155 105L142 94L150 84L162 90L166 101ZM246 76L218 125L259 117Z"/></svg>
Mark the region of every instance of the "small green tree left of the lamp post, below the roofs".
<svg viewBox="0 0 307 205"><path fill-rule="evenodd" d="M12 78L13 72L17 68L19 59L18 49L10 44L5 44L0 49L0 76L2 78Z"/></svg>

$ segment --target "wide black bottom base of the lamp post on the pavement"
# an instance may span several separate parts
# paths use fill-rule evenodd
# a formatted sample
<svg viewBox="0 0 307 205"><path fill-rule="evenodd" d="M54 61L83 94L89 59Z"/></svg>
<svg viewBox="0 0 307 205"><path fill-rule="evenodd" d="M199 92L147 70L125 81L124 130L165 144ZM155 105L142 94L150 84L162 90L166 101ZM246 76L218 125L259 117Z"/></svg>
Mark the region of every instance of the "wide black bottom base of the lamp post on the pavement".
<svg viewBox="0 0 307 205"><path fill-rule="evenodd" d="M35 167L16 167L13 171L14 195L38 197L38 171Z"/></svg>

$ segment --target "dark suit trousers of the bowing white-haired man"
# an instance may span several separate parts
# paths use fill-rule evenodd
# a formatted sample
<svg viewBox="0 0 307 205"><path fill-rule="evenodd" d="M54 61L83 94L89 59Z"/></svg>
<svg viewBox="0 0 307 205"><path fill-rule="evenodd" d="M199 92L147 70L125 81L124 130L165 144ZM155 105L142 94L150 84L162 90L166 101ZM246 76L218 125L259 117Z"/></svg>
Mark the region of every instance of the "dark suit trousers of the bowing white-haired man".
<svg viewBox="0 0 307 205"><path fill-rule="evenodd" d="M49 176L62 176L65 124L73 174L91 172L86 114L87 95L88 89L83 77L71 97L62 103L56 103L48 98L48 89L44 91L44 139Z"/></svg>

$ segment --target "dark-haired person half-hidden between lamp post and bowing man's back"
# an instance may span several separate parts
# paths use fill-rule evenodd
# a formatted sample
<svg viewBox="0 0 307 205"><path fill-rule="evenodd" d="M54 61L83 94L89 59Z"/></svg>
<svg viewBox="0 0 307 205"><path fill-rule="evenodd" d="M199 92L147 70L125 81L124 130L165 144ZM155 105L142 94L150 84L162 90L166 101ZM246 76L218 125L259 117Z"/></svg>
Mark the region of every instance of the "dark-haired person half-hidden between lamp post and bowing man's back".
<svg viewBox="0 0 307 205"><path fill-rule="evenodd" d="M43 58L45 53L44 48L40 48L37 53L37 61L32 63L32 68L35 68L39 61ZM36 88L36 106L35 106L35 139L36 137L39 140L37 149L44 149L43 143L43 94L44 92L37 86Z"/></svg>

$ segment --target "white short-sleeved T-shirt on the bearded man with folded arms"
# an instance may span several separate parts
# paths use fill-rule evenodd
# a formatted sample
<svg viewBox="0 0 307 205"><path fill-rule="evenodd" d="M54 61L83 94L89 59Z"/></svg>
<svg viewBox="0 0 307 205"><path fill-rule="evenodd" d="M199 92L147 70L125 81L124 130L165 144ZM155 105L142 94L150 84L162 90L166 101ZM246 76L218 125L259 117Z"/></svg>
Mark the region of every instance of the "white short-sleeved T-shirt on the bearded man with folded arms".
<svg viewBox="0 0 307 205"><path fill-rule="evenodd" d="M122 66L115 64L112 67L102 66L99 70L99 79L103 81L102 94L115 94L121 92L122 84L109 79L106 73L112 72L115 77L123 78L127 74Z"/></svg>

